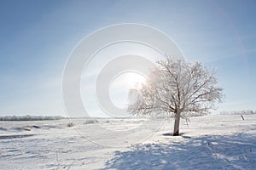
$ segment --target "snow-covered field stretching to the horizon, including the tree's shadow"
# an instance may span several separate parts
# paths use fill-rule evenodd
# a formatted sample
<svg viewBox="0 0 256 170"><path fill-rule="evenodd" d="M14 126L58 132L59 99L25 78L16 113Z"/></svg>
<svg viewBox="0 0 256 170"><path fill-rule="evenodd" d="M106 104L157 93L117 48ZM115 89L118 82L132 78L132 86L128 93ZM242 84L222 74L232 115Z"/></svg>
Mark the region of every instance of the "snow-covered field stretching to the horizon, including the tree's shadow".
<svg viewBox="0 0 256 170"><path fill-rule="evenodd" d="M0 169L255 169L256 115L0 122Z"/></svg>

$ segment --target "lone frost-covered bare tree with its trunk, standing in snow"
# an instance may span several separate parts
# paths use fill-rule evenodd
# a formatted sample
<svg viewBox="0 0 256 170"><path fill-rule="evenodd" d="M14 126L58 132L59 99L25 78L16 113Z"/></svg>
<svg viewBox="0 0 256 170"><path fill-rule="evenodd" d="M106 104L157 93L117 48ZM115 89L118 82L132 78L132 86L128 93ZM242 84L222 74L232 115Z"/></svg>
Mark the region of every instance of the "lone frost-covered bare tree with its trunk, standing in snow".
<svg viewBox="0 0 256 170"><path fill-rule="evenodd" d="M128 111L137 116L167 114L175 119L173 135L179 135L180 118L204 115L223 99L214 70L199 62L166 56L156 63L144 82L129 92Z"/></svg>

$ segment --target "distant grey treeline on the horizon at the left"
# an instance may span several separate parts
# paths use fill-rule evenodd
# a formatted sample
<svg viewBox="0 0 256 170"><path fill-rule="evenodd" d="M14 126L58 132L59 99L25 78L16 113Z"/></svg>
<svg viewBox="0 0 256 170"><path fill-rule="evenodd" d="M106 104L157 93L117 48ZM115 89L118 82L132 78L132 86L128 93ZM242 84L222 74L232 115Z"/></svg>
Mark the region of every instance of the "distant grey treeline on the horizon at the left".
<svg viewBox="0 0 256 170"><path fill-rule="evenodd" d="M47 121L63 118L62 116L0 116L0 121Z"/></svg>

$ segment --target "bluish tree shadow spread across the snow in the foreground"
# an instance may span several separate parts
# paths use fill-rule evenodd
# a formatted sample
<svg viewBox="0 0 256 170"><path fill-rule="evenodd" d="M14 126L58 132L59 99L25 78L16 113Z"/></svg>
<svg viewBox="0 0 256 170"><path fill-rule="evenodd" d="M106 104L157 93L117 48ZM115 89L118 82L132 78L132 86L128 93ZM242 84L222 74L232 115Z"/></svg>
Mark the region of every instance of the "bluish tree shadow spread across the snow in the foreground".
<svg viewBox="0 0 256 170"><path fill-rule="evenodd" d="M173 137L180 138L180 137ZM256 136L248 134L183 138L170 144L137 144L115 151L106 169L254 169Z"/></svg>

